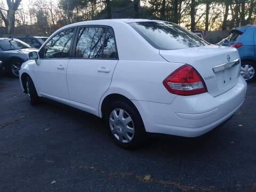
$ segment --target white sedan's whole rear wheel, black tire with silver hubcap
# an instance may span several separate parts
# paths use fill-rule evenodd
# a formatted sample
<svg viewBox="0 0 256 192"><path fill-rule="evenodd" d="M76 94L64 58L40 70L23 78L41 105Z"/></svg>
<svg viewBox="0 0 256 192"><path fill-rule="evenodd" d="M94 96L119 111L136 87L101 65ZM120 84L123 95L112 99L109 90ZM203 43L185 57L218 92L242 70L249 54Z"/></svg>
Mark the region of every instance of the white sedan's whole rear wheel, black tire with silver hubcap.
<svg viewBox="0 0 256 192"><path fill-rule="evenodd" d="M146 131L138 110L123 101L111 103L106 114L109 132L118 146L135 148L146 139Z"/></svg>

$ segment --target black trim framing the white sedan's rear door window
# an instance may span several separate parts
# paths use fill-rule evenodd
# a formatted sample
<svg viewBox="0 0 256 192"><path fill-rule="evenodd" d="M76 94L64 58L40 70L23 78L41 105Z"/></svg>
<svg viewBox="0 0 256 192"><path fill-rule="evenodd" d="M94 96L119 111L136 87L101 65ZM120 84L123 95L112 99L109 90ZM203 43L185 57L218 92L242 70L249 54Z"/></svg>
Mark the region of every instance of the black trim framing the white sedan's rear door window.
<svg viewBox="0 0 256 192"><path fill-rule="evenodd" d="M78 34L79 34L79 29L85 28L85 27L99 27L99 28L112 29L112 31L114 33L114 41L115 41L115 46L116 46L116 58L76 58L75 57L75 55L76 55L76 45L77 45L77 37L78 37ZM106 36L106 32L107 32L107 30L105 30L105 35L104 36ZM116 45L115 31L114 31L114 29L111 26L105 26L105 25L81 25L81 26L77 26L75 40L73 42L72 47L73 47L72 54L71 54L71 58L69 58L69 59L119 60L118 51L117 51L117 45Z"/></svg>

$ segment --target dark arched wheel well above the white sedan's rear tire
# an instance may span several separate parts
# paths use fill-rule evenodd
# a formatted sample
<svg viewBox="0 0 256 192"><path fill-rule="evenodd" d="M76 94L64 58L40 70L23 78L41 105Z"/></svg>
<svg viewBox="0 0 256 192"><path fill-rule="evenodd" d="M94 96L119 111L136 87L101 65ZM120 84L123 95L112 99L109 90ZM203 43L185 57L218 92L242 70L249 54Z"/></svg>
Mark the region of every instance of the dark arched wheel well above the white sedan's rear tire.
<svg viewBox="0 0 256 192"><path fill-rule="evenodd" d="M110 105L110 103L114 102L114 101L123 101L123 102L126 102L127 104L129 105L132 105L134 106L134 108L138 111L137 107L133 104L133 102L126 98L124 95L121 95L121 94L116 94L116 93L113 93L113 94L109 94L103 101L102 101L102 104L101 104L101 113L102 113L102 117L104 118L104 115L106 113L106 110L108 108L108 106ZM138 111L139 113L139 111ZM140 113L139 113L140 114Z"/></svg>

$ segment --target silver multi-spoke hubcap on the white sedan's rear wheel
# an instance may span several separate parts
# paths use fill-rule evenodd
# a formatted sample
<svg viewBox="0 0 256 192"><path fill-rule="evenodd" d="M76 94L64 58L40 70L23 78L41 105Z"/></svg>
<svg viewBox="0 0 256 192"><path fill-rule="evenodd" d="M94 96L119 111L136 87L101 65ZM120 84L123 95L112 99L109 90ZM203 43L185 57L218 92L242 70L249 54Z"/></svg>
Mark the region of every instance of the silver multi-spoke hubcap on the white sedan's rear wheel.
<svg viewBox="0 0 256 192"><path fill-rule="evenodd" d="M123 143L131 142L134 137L134 124L131 116L123 109L114 109L109 116L112 134Z"/></svg>

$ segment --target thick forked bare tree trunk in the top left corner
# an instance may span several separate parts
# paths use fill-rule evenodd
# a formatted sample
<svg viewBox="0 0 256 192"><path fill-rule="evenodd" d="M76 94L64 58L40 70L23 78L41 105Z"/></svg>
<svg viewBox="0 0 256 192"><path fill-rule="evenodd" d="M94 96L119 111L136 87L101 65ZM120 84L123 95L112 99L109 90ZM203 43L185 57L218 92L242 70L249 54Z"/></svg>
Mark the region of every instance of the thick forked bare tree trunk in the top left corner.
<svg viewBox="0 0 256 192"><path fill-rule="evenodd" d="M0 8L0 16L4 21L5 25L5 33L13 34L14 23L15 23L15 12L18 10L21 0L6 0L8 10L4 10ZM7 15L3 13L3 11L7 12Z"/></svg>

